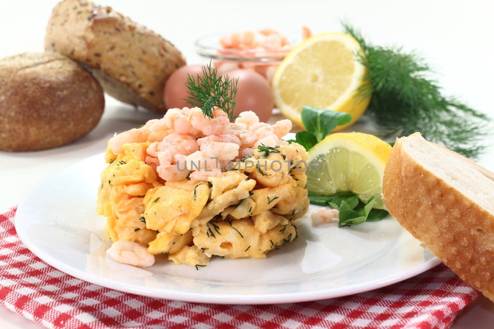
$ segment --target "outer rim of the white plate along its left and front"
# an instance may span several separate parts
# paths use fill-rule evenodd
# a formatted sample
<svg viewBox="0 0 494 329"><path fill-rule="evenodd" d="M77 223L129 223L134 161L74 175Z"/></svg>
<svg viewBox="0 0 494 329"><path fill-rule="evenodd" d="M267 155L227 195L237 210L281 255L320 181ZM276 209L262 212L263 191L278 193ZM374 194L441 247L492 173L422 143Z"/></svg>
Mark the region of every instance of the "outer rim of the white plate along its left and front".
<svg viewBox="0 0 494 329"><path fill-rule="evenodd" d="M92 156L86 157L80 161L73 163L70 166L67 166L59 171L56 171L44 179L42 179L39 183L37 183L31 190L24 196L22 201L19 203L17 207L17 211L14 219L14 226L17 232L17 235L21 242L37 257L39 257L42 261L46 262L50 266L53 266L57 270L71 275L77 279L82 281L89 282L91 284L96 284L101 287L105 287L108 289L117 290L120 292L128 292L142 296L160 298L160 299L171 299L171 300L179 300L179 301L187 301L187 302L196 302L196 303L208 303L208 304L274 304L274 303L295 303L295 302L305 302L305 301L315 301L329 298L337 298L342 296L353 295L362 292L368 292L371 290L379 289L382 287L386 287L404 280L407 280L413 276L421 274L441 263L441 260L434 256L433 258L424 261L406 271L402 271L400 273L395 273L386 277L382 277L379 279L375 279L372 281L367 281L365 283L356 283L350 286L339 287L339 288L329 288L323 289L321 291L310 291L310 292L289 292L289 293L267 293L267 294L258 294L258 295L243 295L243 294L209 294L203 292L181 292L178 290L169 290L169 289L156 289L156 288L148 288L142 289L142 287L134 285L134 284L126 284L120 281L113 281L111 279L99 277L97 275L88 273L86 271L82 271L80 269L74 268L70 265L59 261L57 258L50 256L49 253L43 252L37 245L29 238L27 234L27 230L25 228L28 227L26 222L21 222L18 219L19 214L24 211L24 205L27 202L28 196L33 193L33 190L36 189L38 185L45 182L46 180L51 179L53 176L56 176L60 172L69 170L71 167L78 165L82 161L87 161L91 157L95 157L97 155L101 155L102 153L94 154Z"/></svg>

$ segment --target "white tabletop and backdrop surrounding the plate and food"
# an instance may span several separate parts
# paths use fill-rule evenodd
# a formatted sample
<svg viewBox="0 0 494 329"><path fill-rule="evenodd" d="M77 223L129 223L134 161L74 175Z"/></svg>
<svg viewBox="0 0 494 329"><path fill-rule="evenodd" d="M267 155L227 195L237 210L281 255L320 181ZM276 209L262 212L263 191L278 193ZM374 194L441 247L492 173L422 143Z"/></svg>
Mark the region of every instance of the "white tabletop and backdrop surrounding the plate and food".
<svg viewBox="0 0 494 329"><path fill-rule="evenodd" d="M42 51L46 23L57 2L0 1L0 57ZM190 64L204 62L195 54L193 42L205 34L265 27L298 34L302 25L310 27L314 33L340 31L339 22L344 19L361 28L376 44L396 44L407 50L419 50L438 73L436 78L446 93L494 116L492 1L242 2L247 3L219 0L104 0L98 3L112 6L160 33L183 52ZM297 4L300 2L304 4ZM133 128L155 117L109 97L106 100L100 124L76 143L39 152L0 151L0 212L17 205L32 186L50 173L102 152L106 141L116 131ZM487 142L494 144L494 138L489 137ZM494 171L494 147L489 152L480 162ZM492 328L493 322L494 304L481 297L460 315L453 328L472 325L474 328ZM41 328L3 308L0 308L0 327Z"/></svg>

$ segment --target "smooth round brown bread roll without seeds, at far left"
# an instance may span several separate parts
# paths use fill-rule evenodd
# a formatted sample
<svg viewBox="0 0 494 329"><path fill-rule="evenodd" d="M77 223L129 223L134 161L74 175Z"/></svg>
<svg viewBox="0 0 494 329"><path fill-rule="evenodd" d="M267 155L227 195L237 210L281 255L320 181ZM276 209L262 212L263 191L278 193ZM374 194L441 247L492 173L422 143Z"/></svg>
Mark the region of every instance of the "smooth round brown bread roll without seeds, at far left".
<svg viewBox="0 0 494 329"><path fill-rule="evenodd" d="M103 90L63 55L25 53L0 59L0 149L61 146L91 131L103 114Z"/></svg>

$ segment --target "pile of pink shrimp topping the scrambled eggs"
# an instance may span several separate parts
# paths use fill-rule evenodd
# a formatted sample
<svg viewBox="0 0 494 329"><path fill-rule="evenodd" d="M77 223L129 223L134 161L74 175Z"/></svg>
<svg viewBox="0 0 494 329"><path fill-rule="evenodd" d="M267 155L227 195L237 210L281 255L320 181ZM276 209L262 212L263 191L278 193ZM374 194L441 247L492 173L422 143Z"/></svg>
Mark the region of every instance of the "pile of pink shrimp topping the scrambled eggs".
<svg viewBox="0 0 494 329"><path fill-rule="evenodd" d="M123 154L123 145L151 142L146 163L165 181L193 182L221 177L226 164L246 155L261 143L288 145L281 138L291 129L291 121L273 125L259 122L252 111L241 112L230 123L226 112L216 108L213 118L199 108L170 109L162 119L148 121L141 128L124 131L108 142L115 154Z"/></svg>

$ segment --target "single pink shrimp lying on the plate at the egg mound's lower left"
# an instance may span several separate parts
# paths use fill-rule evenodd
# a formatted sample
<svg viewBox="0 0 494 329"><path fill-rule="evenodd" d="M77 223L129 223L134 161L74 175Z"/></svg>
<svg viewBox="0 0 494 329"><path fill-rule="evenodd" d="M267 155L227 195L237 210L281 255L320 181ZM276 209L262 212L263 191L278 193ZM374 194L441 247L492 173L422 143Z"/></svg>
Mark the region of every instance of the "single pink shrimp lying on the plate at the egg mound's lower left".
<svg viewBox="0 0 494 329"><path fill-rule="evenodd" d="M155 256L146 247L133 241L116 241L106 253L119 263L139 267L149 267L155 262Z"/></svg>

